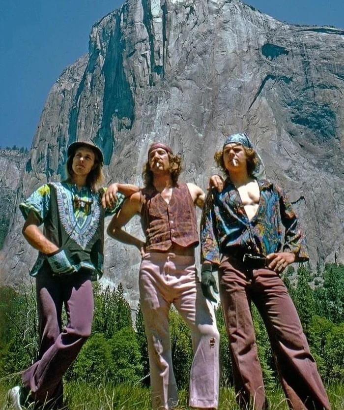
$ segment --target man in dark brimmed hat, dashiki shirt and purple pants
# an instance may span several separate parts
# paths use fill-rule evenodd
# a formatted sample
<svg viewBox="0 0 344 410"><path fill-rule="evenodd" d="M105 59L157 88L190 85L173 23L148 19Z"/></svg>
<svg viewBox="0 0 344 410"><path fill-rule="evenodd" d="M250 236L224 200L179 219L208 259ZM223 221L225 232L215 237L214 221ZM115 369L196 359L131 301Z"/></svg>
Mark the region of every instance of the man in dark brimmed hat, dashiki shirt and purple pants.
<svg viewBox="0 0 344 410"><path fill-rule="evenodd" d="M112 208L102 208L104 159L91 141L72 143L67 155L67 179L43 185L19 205L26 219L23 234L39 251L30 271L36 279L39 352L23 372L22 386L8 391L15 410L31 402L45 408L62 405L62 376L91 331L91 281L103 274L104 218L118 212L124 199L117 194ZM63 305L68 323L62 330Z"/></svg>

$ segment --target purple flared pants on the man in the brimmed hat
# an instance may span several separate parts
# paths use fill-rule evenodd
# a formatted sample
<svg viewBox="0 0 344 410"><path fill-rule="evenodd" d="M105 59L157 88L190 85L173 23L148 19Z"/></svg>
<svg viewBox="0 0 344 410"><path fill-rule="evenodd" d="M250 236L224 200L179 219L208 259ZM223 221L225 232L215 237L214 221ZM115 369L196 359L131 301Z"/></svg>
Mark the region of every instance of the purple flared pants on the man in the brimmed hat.
<svg viewBox="0 0 344 410"><path fill-rule="evenodd" d="M46 264L36 276L39 353L22 378L23 387L37 404L59 407L62 403L62 377L91 332L93 291L89 278L87 270L70 277L52 276ZM62 329L63 306L67 324Z"/></svg>

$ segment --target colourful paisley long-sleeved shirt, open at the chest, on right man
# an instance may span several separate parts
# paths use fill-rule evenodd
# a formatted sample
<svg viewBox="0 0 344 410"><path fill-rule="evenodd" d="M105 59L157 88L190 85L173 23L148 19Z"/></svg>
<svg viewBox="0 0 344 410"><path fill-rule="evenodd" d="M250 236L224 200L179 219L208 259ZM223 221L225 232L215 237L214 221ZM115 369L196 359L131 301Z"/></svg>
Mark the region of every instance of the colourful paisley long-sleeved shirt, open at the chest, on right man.
<svg viewBox="0 0 344 410"><path fill-rule="evenodd" d="M222 192L208 192L201 218L201 260L219 264L222 254L292 252L308 260L305 238L295 211L281 188L258 180L260 198L249 221L239 192L229 179Z"/></svg>

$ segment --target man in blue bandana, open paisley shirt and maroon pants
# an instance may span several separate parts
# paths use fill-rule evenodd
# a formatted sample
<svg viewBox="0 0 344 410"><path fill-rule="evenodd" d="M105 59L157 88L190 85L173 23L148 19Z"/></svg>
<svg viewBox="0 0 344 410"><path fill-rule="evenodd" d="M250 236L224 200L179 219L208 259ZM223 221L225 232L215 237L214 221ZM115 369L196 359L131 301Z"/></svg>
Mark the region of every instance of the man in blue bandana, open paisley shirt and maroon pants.
<svg viewBox="0 0 344 410"><path fill-rule="evenodd" d="M226 173L222 192L209 191L201 221L202 289L220 298L232 359L234 387L243 409L266 408L251 301L270 338L287 402L293 410L330 409L300 319L279 274L308 260L297 216L283 190L261 179L263 164L246 134L230 135L215 154Z"/></svg>

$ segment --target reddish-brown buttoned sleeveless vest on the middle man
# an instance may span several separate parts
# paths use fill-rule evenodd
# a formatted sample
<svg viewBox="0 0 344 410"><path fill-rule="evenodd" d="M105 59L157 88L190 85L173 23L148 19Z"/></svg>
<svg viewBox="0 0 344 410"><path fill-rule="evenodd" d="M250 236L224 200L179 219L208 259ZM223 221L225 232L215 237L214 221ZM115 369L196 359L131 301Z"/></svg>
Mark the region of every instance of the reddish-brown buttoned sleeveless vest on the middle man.
<svg viewBox="0 0 344 410"><path fill-rule="evenodd" d="M197 219L194 201L186 184L172 189L170 203L154 187L141 191L141 224L146 251L167 251L172 244L197 246Z"/></svg>

